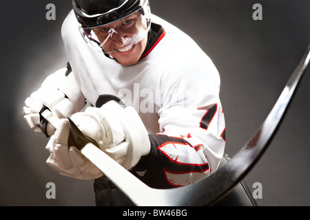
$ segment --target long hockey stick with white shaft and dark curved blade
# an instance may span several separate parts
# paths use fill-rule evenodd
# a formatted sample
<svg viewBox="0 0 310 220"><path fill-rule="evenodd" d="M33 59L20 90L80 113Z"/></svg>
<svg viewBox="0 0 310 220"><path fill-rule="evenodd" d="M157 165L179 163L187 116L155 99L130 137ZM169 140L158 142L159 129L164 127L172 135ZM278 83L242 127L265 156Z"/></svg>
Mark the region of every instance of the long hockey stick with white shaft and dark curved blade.
<svg viewBox="0 0 310 220"><path fill-rule="evenodd" d="M69 118L70 130L80 144L85 144L80 148L81 153L102 170L136 206L211 206L233 190L265 152L284 118L289 102L309 65L309 59L310 45L273 109L249 142L216 173L189 186L172 189L150 188L97 148L96 143L83 135ZM43 117L52 118L48 115L50 112L45 112ZM50 122L54 124L53 120Z"/></svg>

